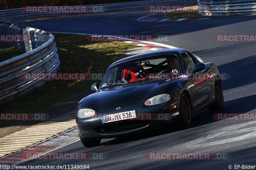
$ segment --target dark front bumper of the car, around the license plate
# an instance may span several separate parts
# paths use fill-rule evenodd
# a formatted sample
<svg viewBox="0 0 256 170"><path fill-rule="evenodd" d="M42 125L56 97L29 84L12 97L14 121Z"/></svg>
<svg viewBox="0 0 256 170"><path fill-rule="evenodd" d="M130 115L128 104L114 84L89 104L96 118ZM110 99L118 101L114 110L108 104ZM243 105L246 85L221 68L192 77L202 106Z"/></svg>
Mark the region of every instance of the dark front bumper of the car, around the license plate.
<svg viewBox="0 0 256 170"><path fill-rule="evenodd" d="M96 114L90 118L81 119L76 116L76 124L78 132L83 138L112 138L141 133L172 123L173 117L179 117L179 103L180 97L175 97L166 103L155 106L145 106L143 102L120 106L120 110L112 107L96 111ZM173 109L173 105L177 105L177 107ZM137 116L135 120L121 120L104 124L101 122L103 115L130 110L135 110Z"/></svg>

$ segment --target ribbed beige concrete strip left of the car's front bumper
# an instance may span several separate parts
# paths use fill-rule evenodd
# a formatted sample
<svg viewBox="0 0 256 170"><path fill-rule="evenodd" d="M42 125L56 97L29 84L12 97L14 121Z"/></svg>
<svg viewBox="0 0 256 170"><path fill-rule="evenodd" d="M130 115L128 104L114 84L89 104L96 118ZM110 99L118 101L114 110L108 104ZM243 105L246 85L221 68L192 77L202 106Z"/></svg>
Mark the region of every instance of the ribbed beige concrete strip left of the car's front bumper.
<svg viewBox="0 0 256 170"><path fill-rule="evenodd" d="M75 110L1 137L0 157L20 151L74 127L76 127Z"/></svg>

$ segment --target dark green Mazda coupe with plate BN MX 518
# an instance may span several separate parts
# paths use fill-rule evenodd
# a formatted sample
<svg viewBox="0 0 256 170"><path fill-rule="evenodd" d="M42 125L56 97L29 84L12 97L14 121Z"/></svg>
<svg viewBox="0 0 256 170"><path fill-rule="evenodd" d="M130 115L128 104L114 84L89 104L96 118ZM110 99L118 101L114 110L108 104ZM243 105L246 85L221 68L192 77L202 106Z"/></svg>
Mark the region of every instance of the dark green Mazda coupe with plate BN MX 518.
<svg viewBox="0 0 256 170"><path fill-rule="evenodd" d="M76 108L76 123L86 147L102 138L141 133L178 122L189 126L203 109L223 107L220 74L185 49L164 49L111 64L96 91ZM167 126L168 127L168 126Z"/></svg>

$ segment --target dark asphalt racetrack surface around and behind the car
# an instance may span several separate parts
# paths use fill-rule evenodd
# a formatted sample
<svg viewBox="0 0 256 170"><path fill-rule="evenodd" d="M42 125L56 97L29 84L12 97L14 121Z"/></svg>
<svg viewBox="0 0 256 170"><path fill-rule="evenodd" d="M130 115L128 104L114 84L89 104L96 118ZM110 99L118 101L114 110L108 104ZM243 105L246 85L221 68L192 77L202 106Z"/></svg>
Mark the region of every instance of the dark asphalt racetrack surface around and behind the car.
<svg viewBox="0 0 256 170"><path fill-rule="evenodd" d="M100 146L85 148L80 141L55 153L103 153L104 159L30 160L21 165L89 165L90 169L229 169L256 165L256 121L216 121L214 113L256 112L255 42L217 42L215 35L254 35L256 16L211 18L179 22L142 22L141 11L78 14L19 23L50 32L88 34L168 35L159 43L185 48L205 63L218 66L228 76L222 80L224 108L205 110L193 117L192 126L158 129L142 135L104 139ZM227 159L148 160L147 153L224 153Z"/></svg>

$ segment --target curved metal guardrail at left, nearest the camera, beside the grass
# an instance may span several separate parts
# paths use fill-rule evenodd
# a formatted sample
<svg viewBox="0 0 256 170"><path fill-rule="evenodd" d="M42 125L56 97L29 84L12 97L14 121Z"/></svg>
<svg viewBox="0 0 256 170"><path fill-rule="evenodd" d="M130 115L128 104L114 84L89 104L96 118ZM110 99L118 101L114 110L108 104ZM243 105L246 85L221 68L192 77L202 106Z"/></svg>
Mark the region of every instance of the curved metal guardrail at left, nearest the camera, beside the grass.
<svg viewBox="0 0 256 170"><path fill-rule="evenodd" d="M40 80L26 80L22 78L22 75L32 72L55 72L60 65L60 60L52 33L4 22L0 22L0 28L1 35L19 34L31 37L26 42L1 42L27 51L25 54L0 63L0 102L2 103L44 83ZM45 37L45 40L36 41L36 35Z"/></svg>

